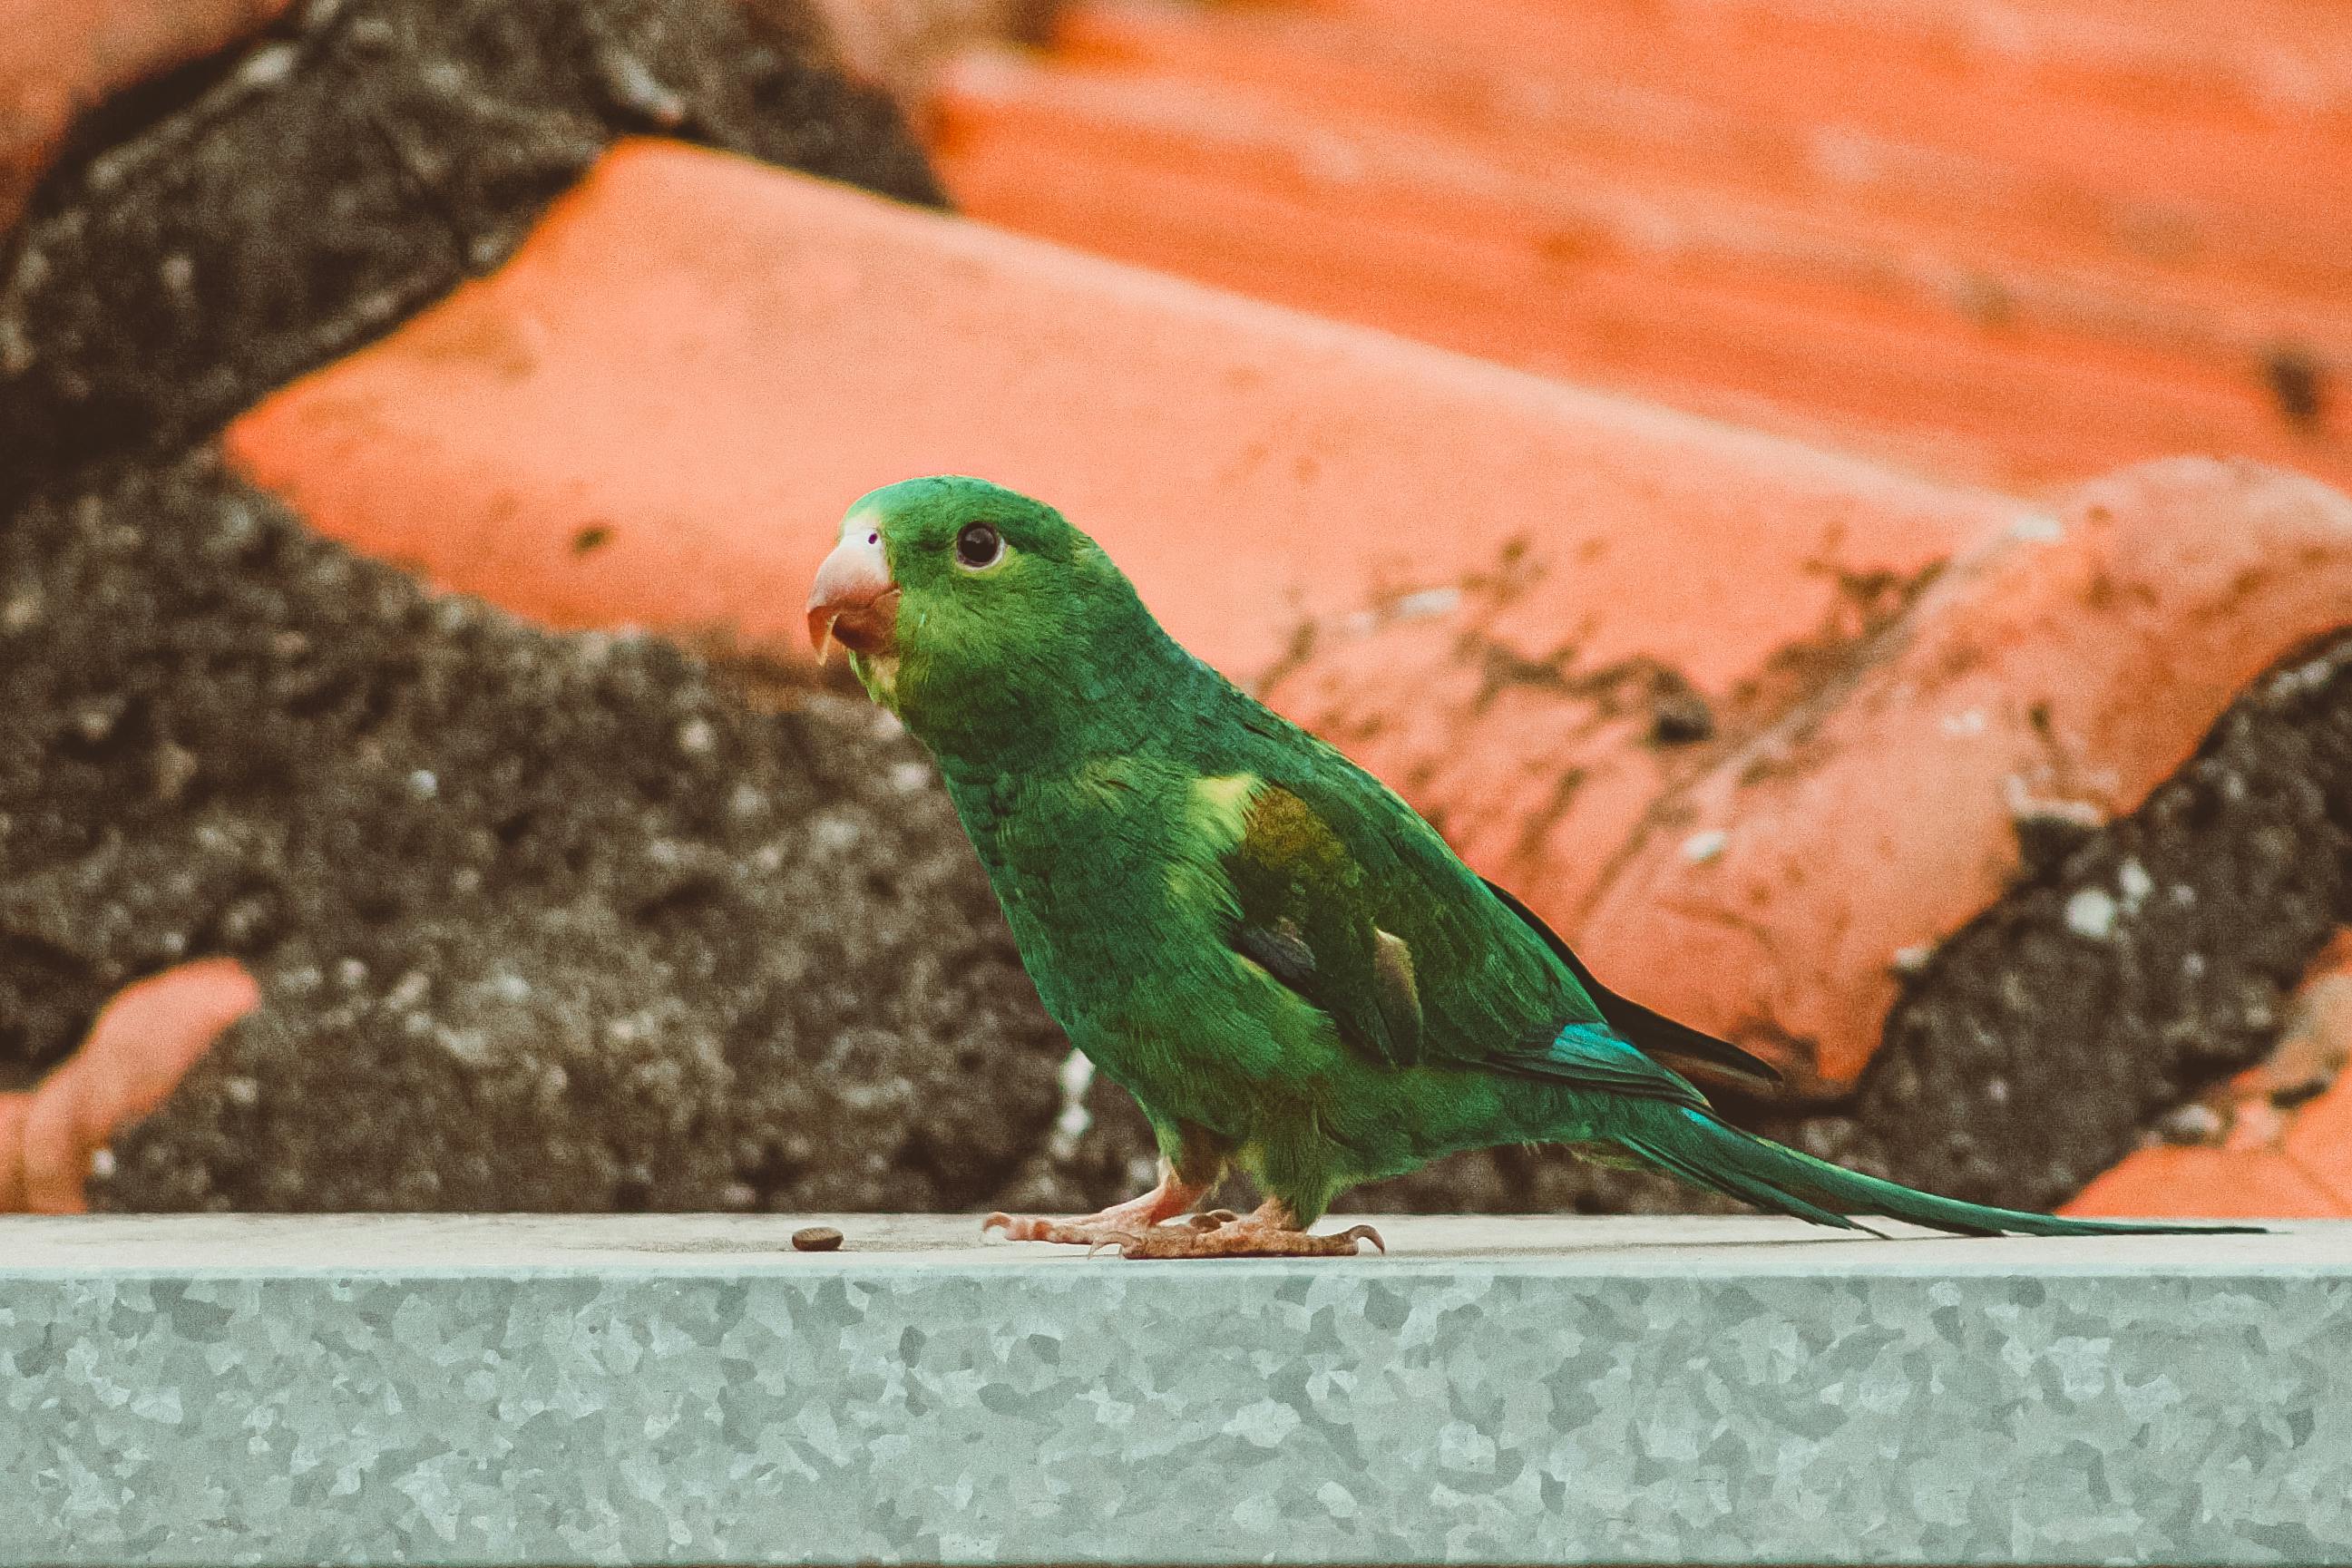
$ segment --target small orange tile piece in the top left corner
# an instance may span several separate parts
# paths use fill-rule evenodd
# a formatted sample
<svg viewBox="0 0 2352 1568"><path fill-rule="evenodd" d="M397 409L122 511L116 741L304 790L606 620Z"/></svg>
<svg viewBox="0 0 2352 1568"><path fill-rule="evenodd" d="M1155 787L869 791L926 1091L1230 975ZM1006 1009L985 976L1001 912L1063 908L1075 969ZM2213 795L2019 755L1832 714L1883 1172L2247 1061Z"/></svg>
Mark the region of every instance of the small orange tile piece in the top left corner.
<svg viewBox="0 0 2352 1568"><path fill-rule="evenodd" d="M78 113L256 33L287 0L0 0L0 233Z"/></svg>

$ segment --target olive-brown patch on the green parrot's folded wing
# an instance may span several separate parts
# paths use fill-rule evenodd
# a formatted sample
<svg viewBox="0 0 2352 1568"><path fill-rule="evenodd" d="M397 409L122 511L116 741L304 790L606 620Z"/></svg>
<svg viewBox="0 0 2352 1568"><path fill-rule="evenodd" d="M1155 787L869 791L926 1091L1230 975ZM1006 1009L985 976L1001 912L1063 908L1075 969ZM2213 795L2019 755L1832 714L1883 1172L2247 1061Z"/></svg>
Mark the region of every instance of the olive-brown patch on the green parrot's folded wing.
<svg viewBox="0 0 2352 1568"><path fill-rule="evenodd" d="M1242 957L1329 1013L1350 1046L1397 1067L1421 1060L1414 950L1378 926L1364 867L1312 806L1254 780L1223 870Z"/></svg>

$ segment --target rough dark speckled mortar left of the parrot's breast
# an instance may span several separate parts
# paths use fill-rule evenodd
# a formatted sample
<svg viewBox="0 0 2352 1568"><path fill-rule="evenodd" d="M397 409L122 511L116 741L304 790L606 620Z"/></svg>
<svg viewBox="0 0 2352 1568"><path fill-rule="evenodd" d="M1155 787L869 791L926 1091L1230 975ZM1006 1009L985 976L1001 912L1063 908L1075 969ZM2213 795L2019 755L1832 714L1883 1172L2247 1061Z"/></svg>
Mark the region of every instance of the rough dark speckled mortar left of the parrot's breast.
<svg viewBox="0 0 2352 1568"><path fill-rule="evenodd" d="M0 534L0 1063L181 957L263 985L115 1208L988 1201L1065 1053L920 748L555 637L209 458Z"/></svg>

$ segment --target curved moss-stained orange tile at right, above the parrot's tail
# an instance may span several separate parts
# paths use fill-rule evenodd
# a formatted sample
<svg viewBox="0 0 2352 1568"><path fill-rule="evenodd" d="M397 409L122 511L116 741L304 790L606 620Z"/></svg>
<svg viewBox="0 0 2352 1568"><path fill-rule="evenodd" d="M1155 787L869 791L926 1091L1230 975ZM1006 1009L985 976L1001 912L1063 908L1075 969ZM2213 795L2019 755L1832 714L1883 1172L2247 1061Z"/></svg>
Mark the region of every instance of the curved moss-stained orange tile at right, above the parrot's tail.
<svg viewBox="0 0 2352 1568"><path fill-rule="evenodd" d="M1611 985L1851 1084L1896 954L2002 893L2020 806L2131 811L2249 679L2347 623L2345 496L2201 458L2112 475L1653 804L1571 924Z"/></svg>

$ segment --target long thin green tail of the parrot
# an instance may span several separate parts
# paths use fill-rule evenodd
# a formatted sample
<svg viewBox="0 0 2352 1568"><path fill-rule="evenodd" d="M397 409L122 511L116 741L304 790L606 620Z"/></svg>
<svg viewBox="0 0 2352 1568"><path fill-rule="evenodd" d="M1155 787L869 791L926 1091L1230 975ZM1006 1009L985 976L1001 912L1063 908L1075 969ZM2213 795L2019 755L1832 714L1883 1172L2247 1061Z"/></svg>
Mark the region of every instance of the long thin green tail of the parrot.
<svg viewBox="0 0 2352 1568"><path fill-rule="evenodd" d="M2140 1225L2133 1220L2065 1220L2025 1208L1987 1208L1933 1192L1863 1175L1813 1159L1799 1150L1743 1133L1710 1112L1670 1100L1625 1105L1616 1143L1686 1182L1736 1197L1771 1213L1792 1213L1813 1225L1870 1229L1849 1213L1950 1229L1964 1237L2114 1237L2114 1234L2260 1234L2260 1225ZM1877 1234L1877 1232L1872 1232Z"/></svg>

